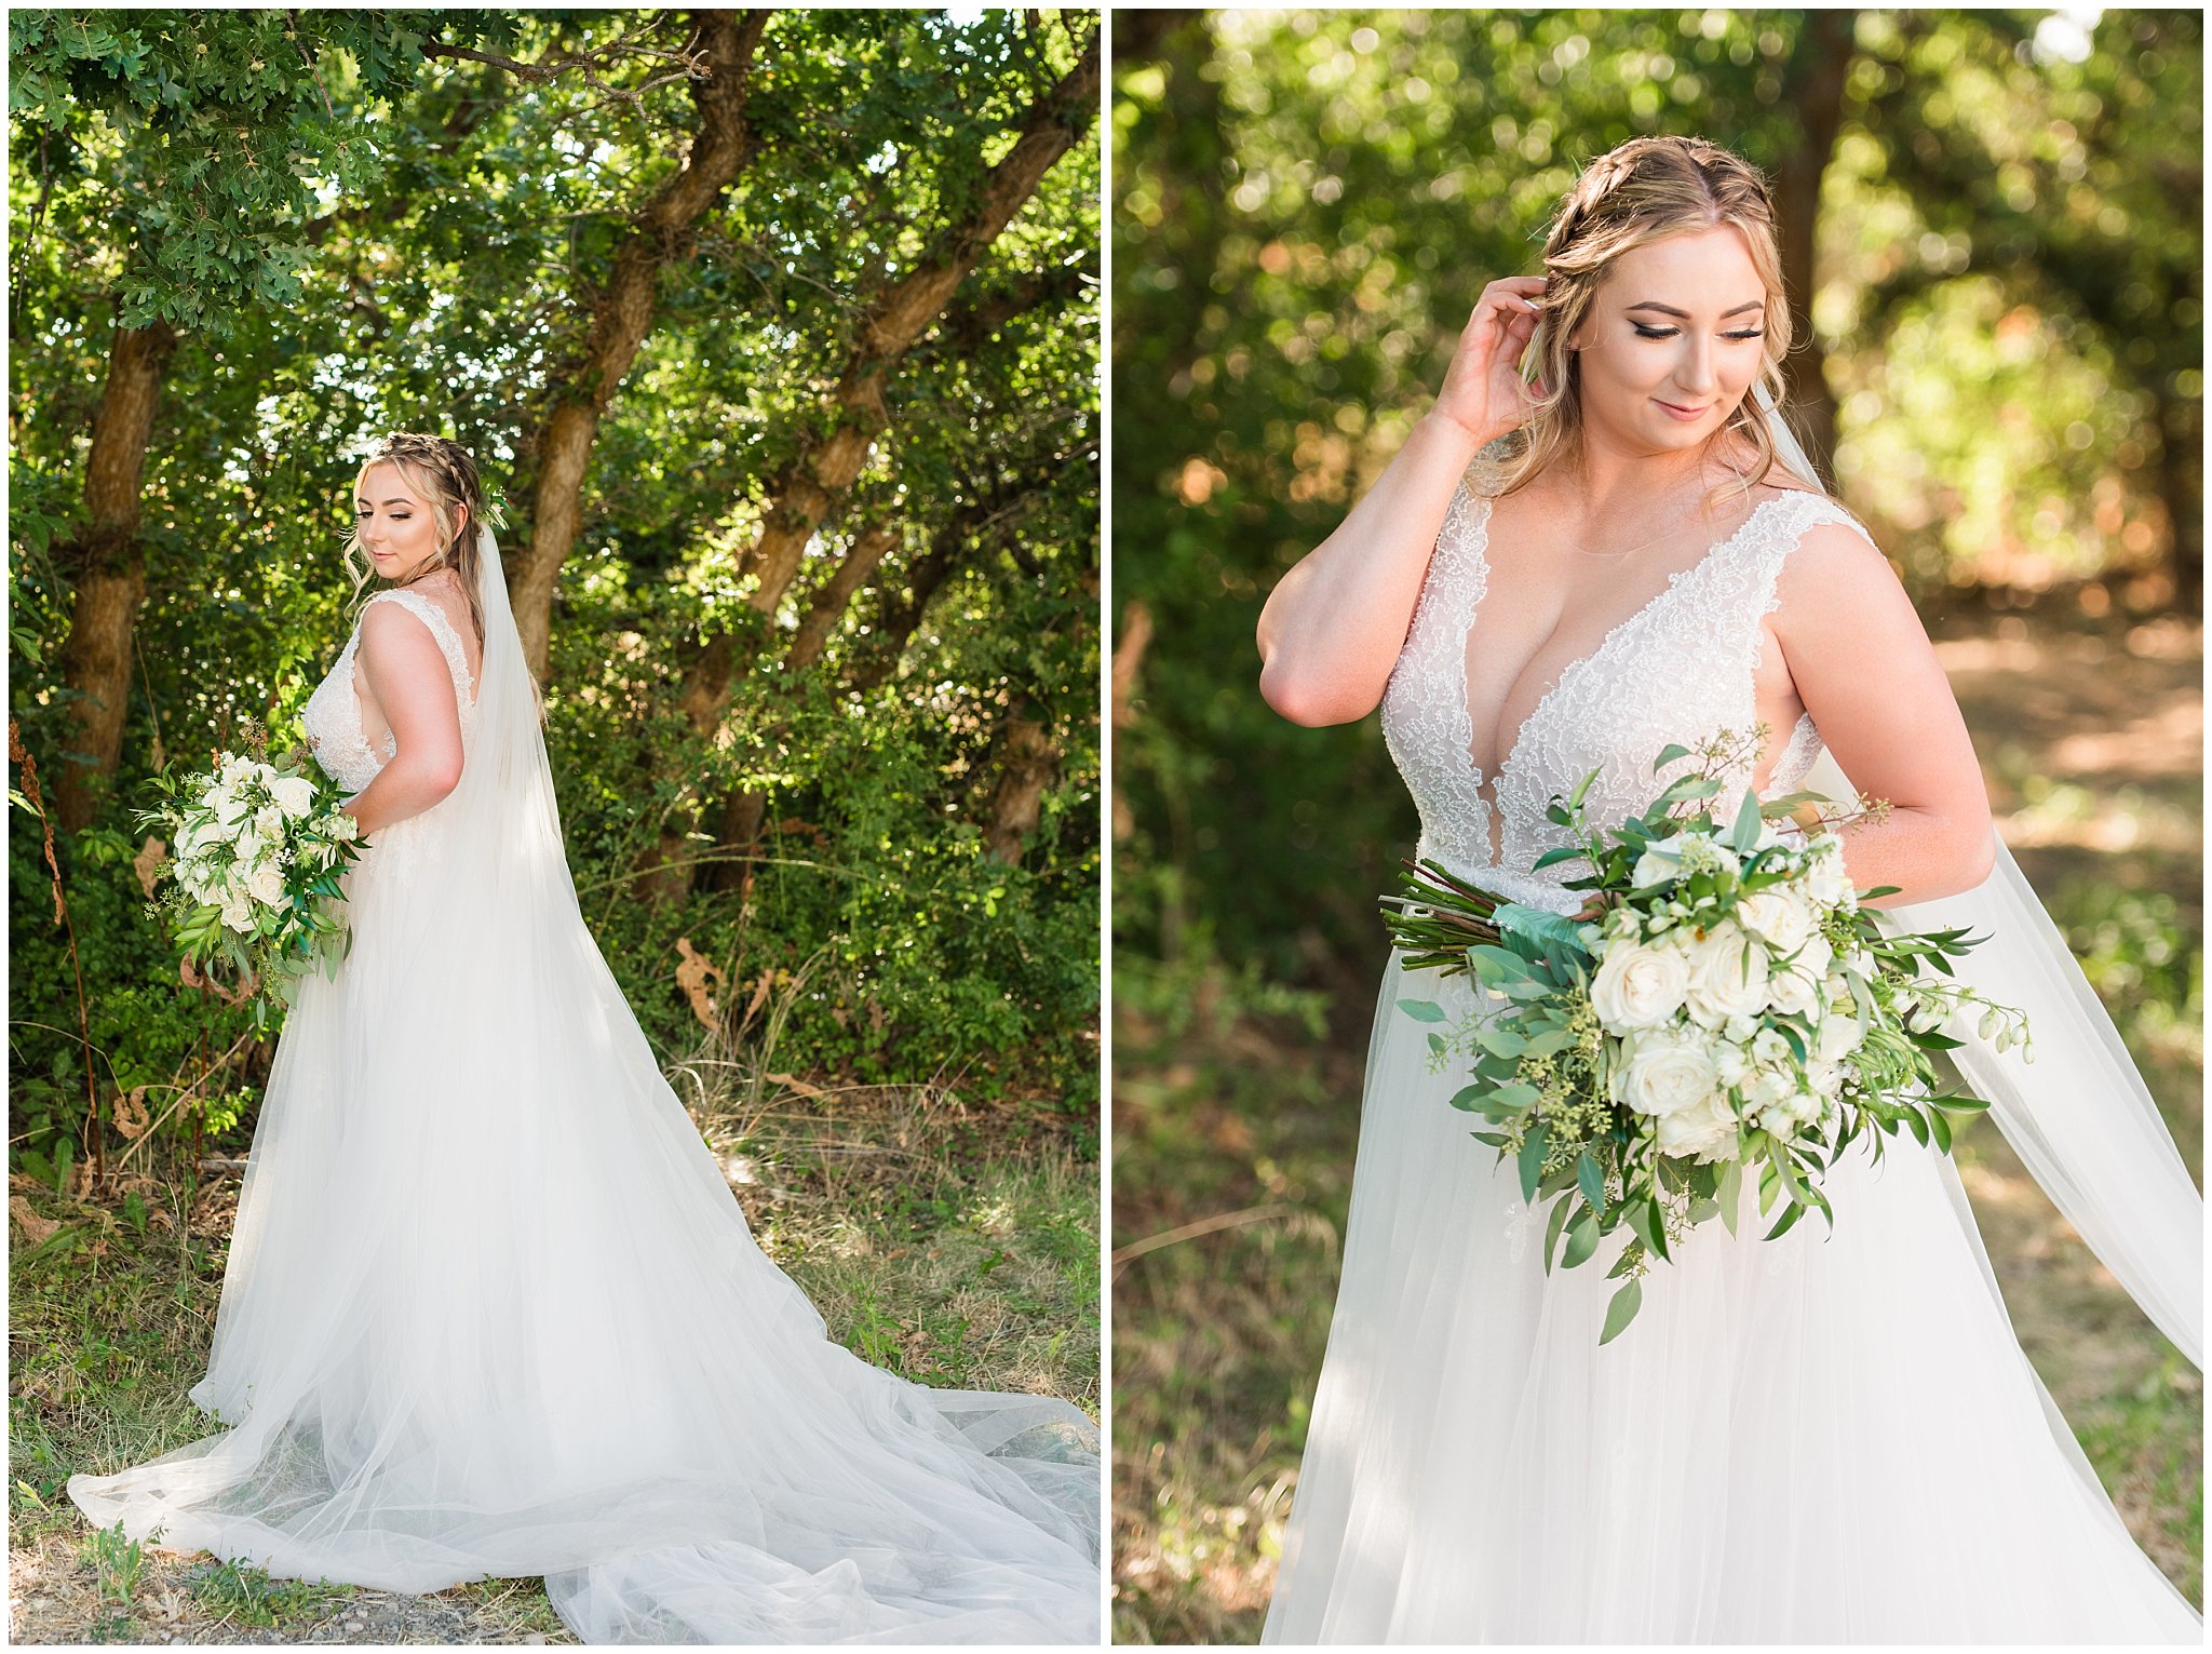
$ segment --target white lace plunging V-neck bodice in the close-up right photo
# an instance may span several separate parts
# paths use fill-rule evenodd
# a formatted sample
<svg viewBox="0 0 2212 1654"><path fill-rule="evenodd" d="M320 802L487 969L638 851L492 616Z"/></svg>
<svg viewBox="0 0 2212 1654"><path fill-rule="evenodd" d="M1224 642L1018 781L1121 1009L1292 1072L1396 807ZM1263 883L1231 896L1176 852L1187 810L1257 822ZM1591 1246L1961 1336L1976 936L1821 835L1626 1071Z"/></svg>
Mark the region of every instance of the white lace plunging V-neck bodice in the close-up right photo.
<svg viewBox="0 0 2212 1654"><path fill-rule="evenodd" d="M1761 619L1778 604L1783 562L1807 528L1838 522L1858 528L1840 504L1818 493L1761 500L1732 535L1701 562L1672 575L1644 608L1559 672L1498 765L1489 794L1498 809L1498 858L1491 860L1491 798L1469 750L1467 648L1489 590L1486 469L1462 478L1436 537L1436 553L1413 608L1405 650L1383 692L1383 739L1420 809L1420 856L1436 858L1511 900L1555 911L1582 896L1562 891L1577 865L1531 873L1546 849L1571 842L1544 818L1553 796L1566 796L1590 772L1590 820L1615 825L1641 812L1690 761L1655 774L1668 743L1697 745L1719 730L1747 732L1756 719L1754 679ZM1858 528L1865 533L1865 528ZM1812 714L1798 719L1767 781L1767 794L1794 789L1820 736ZM1741 798L1750 774L1741 776ZM1714 800L1732 807L1730 794ZM1582 869L1588 871L1588 869Z"/></svg>

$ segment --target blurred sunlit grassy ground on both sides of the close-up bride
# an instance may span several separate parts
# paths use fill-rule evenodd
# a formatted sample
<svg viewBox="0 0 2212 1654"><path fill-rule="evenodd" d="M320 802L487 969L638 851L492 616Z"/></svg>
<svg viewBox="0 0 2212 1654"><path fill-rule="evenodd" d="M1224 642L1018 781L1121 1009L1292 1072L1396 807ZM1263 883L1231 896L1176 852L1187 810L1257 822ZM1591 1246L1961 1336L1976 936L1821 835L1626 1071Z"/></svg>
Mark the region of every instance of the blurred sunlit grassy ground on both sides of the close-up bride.
<svg viewBox="0 0 2212 1654"><path fill-rule="evenodd" d="M1938 650L2006 840L2199 1170L2201 632L2143 632L1984 617ZM1367 982L1374 969L1380 940ZM1186 975L1117 960L1117 1643L1259 1639L1358 1137L1371 1002L1345 991L1332 1026L1310 1028L1225 971ZM1188 1015L1208 1002L1214 1015ZM1962 1137L1960 1170L2022 1347L2137 1541L2201 1603L2201 1375L1995 1130Z"/></svg>

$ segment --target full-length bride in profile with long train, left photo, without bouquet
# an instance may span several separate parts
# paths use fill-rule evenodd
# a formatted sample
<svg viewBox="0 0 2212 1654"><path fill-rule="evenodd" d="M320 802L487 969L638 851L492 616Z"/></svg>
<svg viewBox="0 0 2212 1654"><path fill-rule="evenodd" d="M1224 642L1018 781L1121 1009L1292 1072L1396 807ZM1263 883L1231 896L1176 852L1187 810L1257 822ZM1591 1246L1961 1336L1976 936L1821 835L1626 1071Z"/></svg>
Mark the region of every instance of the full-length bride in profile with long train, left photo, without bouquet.
<svg viewBox="0 0 2212 1654"><path fill-rule="evenodd" d="M367 836L292 1006L208 1375L228 1431L69 1495L290 1579L544 1574L595 1643L1093 1643L1097 1431L834 1344L754 1245L568 880L456 442L394 436L389 582L305 712Z"/></svg>

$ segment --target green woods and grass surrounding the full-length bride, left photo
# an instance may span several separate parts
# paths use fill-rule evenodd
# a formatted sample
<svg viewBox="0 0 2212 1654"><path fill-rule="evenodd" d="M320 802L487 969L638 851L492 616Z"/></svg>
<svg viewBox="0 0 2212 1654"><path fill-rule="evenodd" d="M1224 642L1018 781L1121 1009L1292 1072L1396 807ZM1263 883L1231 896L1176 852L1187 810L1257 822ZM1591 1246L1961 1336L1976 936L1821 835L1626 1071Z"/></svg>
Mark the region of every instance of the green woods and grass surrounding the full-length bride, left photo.
<svg viewBox="0 0 2212 1654"><path fill-rule="evenodd" d="M18 1639L560 1634L58 1497L201 1431L274 1046L179 984L133 809L296 739L389 429L504 495L584 915L763 1245L869 1360L1095 1406L1099 57L1095 11L9 13Z"/></svg>

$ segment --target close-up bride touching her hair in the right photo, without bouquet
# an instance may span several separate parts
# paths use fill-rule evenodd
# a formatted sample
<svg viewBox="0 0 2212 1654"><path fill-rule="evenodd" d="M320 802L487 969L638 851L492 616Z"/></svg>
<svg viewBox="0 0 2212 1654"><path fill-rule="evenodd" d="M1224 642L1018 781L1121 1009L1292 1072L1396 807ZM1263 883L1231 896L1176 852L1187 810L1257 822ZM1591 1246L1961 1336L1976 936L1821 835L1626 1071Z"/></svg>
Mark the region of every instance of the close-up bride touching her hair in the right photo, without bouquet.
<svg viewBox="0 0 2212 1654"><path fill-rule="evenodd" d="M1484 287L1433 411L1276 586L1261 690L1310 725L1380 705L1420 854L1562 913L1573 865L1531 869L1593 767L1613 825L1668 743L1763 725L1717 818L1743 787L1887 798L1847 831L1854 882L1993 935L1966 969L2037 1066L1953 1028L1960 1066L2201 1362L2201 1201L1993 834L1902 588L1774 418L1787 327L1750 166L1672 137L1595 161L1544 274ZM1396 1011L1464 1013L1464 984L1383 977L1267 1641L2201 1641L2022 1355L1947 1159L1851 1150L1834 1234L1701 1225L1599 1347L1608 1256L1544 1274L1542 1210Z"/></svg>

